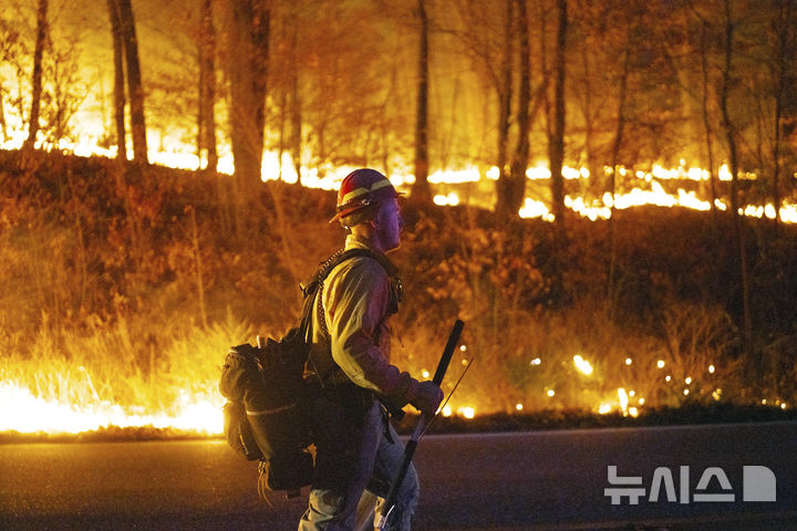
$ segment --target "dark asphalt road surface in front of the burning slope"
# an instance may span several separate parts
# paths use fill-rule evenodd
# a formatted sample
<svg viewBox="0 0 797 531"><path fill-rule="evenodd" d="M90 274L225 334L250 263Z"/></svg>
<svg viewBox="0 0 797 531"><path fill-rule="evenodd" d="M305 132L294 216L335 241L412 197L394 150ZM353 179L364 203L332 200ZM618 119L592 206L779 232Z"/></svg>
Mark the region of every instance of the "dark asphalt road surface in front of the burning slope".
<svg viewBox="0 0 797 531"><path fill-rule="evenodd" d="M796 444L797 423L428 436L415 529L797 530ZM269 506L256 468L220 440L0 446L0 529L296 529L307 496Z"/></svg>

